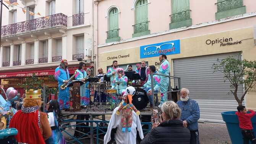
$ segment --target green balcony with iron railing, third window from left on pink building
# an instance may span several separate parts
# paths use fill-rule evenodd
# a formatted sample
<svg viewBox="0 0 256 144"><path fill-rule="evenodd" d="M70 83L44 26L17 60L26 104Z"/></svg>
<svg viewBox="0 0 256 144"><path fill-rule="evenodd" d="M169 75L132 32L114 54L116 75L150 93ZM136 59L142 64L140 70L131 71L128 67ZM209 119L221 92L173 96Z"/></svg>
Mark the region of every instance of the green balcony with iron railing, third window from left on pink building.
<svg viewBox="0 0 256 144"><path fill-rule="evenodd" d="M169 24L170 29L181 28L184 26L191 26L192 19L190 18L190 11L185 10L179 13L173 13L171 16L171 23Z"/></svg>

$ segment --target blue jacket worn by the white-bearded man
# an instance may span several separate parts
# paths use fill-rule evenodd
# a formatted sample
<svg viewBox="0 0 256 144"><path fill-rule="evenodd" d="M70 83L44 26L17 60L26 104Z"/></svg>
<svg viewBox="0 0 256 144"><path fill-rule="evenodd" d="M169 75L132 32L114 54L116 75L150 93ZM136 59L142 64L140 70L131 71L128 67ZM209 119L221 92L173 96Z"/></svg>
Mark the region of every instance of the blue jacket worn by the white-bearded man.
<svg viewBox="0 0 256 144"><path fill-rule="evenodd" d="M183 102L179 100L177 102L181 109L181 120L186 120L188 122L188 129L194 131L198 129L198 120L200 118L199 105L195 100L188 99L188 101Z"/></svg>

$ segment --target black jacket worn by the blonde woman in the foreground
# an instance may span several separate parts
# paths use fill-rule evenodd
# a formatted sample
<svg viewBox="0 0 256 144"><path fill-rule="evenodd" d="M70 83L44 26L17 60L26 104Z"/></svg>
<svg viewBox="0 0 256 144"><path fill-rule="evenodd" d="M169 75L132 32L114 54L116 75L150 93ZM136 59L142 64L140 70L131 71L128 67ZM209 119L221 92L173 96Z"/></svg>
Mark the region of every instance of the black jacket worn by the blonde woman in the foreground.
<svg viewBox="0 0 256 144"><path fill-rule="evenodd" d="M190 131L181 120L169 120L152 129L140 144L190 144Z"/></svg>

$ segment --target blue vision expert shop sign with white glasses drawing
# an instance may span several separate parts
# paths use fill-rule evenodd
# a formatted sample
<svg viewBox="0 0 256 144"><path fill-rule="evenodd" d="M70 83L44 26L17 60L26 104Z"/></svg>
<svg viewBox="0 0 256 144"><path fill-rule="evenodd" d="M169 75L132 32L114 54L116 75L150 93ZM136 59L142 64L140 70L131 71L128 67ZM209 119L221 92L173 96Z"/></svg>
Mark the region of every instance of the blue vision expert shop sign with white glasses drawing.
<svg viewBox="0 0 256 144"><path fill-rule="evenodd" d="M140 47L141 58L158 57L160 54L173 55L180 53L180 40L172 40Z"/></svg>

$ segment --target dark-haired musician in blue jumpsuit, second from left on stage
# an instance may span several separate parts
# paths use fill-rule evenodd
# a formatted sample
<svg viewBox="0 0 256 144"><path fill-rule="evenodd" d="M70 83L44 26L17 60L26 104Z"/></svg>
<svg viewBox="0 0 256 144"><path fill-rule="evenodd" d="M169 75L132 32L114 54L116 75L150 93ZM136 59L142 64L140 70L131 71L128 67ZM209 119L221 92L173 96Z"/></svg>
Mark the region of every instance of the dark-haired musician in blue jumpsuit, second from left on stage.
<svg viewBox="0 0 256 144"><path fill-rule="evenodd" d="M76 80L85 81L89 77L89 75L91 74L91 71L90 72L88 71L89 75L87 75L87 72L84 69L85 69L85 64L83 62L80 62L79 67L76 70L76 74L75 74ZM82 107L85 107L90 102L88 83L89 82L86 82L85 84L80 86L80 99L81 99L80 105Z"/></svg>

